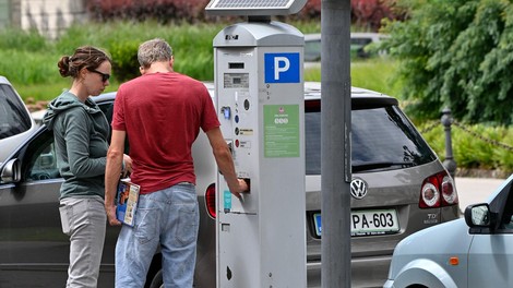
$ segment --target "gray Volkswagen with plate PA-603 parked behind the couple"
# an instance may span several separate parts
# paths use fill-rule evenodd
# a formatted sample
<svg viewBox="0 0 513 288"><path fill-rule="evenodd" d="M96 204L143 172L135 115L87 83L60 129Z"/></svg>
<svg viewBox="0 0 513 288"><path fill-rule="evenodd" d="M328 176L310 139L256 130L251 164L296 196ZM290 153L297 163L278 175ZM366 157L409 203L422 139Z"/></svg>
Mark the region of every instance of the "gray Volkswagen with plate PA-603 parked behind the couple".
<svg viewBox="0 0 513 288"><path fill-rule="evenodd" d="M213 92L212 84L207 87ZM305 84L309 287L321 285L320 87ZM397 100L356 87L351 94L351 280L353 287L378 287L386 280L393 250L402 239L458 218L460 209L453 180ZM114 93L95 98L108 118L114 98ZM216 166L211 151L200 133L193 146L201 206L194 287L208 288L216 283ZM53 137L41 127L0 167L0 287L56 287L65 281L69 242L60 230L62 179L55 155ZM118 231L107 229L100 288L112 287ZM157 251L146 287L162 287L160 265Z"/></svg>

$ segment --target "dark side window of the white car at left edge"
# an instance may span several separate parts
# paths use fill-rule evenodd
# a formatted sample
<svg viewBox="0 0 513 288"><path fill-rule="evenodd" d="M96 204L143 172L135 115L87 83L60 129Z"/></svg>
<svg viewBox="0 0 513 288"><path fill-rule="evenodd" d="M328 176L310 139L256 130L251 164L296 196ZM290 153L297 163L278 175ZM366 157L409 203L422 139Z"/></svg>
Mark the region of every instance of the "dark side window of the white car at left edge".
<svg viewBox="0 0 513 288"><path fill-rule="evenodd" d="M31 129L25 106L9 85L0 85L0 140Z"/></svg>

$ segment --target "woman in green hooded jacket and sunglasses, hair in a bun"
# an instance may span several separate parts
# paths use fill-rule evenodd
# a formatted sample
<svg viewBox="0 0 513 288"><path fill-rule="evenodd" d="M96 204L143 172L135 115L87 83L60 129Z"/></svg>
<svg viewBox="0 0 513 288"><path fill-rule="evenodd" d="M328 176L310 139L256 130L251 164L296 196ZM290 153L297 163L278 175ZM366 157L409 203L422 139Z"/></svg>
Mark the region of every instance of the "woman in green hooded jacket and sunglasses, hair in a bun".
<svg viewBox="0 0 513 288"><path fill-rule="evenodd" d="M96 287L107 219L104 178L109 123L90 96L109 85L111 60L85 46L62 57L58 67L73 83L48 105L44 123L53 131L57 164L64 178L59 209L62 231L71 242L67 287ZM131 166L130 158L124 159Z"/></svg>

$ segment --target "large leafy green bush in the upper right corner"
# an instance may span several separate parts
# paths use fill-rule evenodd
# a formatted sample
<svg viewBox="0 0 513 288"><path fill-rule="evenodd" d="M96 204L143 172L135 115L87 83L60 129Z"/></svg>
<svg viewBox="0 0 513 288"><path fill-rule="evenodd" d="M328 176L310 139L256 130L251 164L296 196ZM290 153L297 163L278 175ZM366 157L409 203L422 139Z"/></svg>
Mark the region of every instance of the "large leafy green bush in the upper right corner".
<svg viewBox="0 0 513 288"><path fill-rule="evenodd" d="M513 2L395 2L408 19L387 22L382 48L401 60L407 111L428 120L449 106L462 121L513 124Z"/></svg>

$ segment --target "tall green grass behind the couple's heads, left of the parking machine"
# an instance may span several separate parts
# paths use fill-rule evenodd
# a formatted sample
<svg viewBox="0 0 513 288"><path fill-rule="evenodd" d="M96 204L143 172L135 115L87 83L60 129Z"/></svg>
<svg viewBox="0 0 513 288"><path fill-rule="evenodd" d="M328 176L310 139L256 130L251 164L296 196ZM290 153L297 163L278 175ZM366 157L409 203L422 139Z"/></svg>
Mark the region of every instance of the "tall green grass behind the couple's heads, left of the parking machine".
<svg viewBox="0 0 513 288"><path fill-rule="evenodd" d="M83 45L93 45L112 55L115 62L136 52L140 43L159 37L174 47L175 70L199 80L213 80L214 62L212 40L224 24L172 24L156 22L111 22L71 26L57 40L49 40L32 32L0 31L0 71L25 99L49 100L70 86L57 69L60 57L73 53ZM124 53L124 55L123 55ZM126 62L122 64L127 65ZM133 64L134 73L139 65ZM116 91L120 80L114 74L107 91Z"/></svg>

